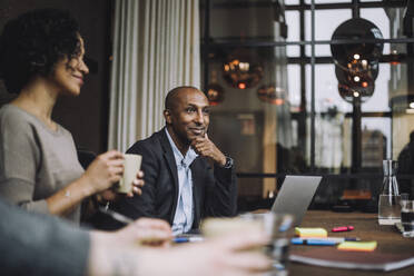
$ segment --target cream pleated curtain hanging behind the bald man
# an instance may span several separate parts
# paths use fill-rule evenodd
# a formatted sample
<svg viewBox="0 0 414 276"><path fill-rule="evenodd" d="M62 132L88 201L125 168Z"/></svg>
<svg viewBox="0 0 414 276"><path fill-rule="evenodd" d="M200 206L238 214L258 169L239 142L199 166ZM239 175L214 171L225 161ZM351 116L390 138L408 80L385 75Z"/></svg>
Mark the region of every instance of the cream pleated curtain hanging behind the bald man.
<svg viewBox="0 0 414 276"><path fill-rule="evenodd" d="M164 99L200 86L198 0L116 0L108 148L164 126Z"/></svg>

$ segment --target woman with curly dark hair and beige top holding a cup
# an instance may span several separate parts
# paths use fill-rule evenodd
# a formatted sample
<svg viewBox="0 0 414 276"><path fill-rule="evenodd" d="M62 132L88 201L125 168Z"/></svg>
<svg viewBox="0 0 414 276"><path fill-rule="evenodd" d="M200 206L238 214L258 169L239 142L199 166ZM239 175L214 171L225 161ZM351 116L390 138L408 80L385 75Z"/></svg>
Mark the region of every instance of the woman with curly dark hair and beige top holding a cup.
<svg viewBox="0 0 414 276"><path fill-rule="evenodd" d="M89 72L77 22L68 12L45 9L9 21L0 37L0 78L18 97L0 109L0 196L28 210L80 218L83 198L110 191L124 172L111 150L86 171L73 139L52 120L58 97L78 96ZM144 185L140 171L134 194ZM129 194L132 196L132 194Z"/></svg>

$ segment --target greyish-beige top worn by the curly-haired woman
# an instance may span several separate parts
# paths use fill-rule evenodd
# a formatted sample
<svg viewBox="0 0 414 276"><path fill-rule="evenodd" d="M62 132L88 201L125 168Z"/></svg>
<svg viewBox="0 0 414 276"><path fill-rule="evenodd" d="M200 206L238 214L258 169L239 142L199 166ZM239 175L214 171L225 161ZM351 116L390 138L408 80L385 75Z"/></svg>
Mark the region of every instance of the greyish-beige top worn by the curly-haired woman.
<svg viewBox="0 0 414 276"><path fill-rule="evenodd" d="M27 210L48 214L46 198L82 172L68 130L58 125L53 131L12 105L0 109L1 197ZM66 217L79 224L80 206Z"/></svg>

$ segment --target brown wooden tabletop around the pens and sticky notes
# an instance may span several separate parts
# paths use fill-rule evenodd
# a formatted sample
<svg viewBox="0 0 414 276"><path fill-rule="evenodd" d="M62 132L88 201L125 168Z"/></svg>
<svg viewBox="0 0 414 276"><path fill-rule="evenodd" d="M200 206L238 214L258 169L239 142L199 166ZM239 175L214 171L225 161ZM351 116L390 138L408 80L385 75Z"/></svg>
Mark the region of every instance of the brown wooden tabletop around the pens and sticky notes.
<svg viewBox="0 0 414 276"><path fill-rule="evenodd" d="M353 231L331 233L335 226L355 227ZM379 226L377 214L365 213L333 213L327 210L308 210L302 221L302 227L323 227L332 237L358 237L362 240L376 240L376 252L393 254L412 254L414 256L414 238L404 238L395 226ZM314 246L292 245L290 253L315 248ZM366 253L369 254L369 253ZM321 266L310 266L299 263L289 264L289 276L359 276L359 275L414 275L414 266L392 272L339 269Z"/></svg>

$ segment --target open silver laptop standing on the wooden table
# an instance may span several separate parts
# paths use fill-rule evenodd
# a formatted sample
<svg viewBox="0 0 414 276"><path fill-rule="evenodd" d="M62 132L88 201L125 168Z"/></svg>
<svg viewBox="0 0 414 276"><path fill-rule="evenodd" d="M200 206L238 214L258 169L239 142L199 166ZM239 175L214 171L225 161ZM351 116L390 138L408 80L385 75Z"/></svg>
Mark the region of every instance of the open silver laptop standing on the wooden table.
<svg viewBox="0 0 414 276"><path fill-rule="evenodd" d="M321 176L286 176L272 211L294 215L294 226L299 226L321 180Z"/></svg>

